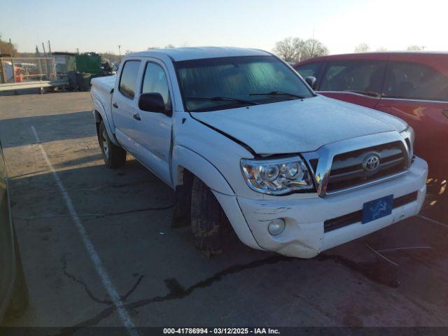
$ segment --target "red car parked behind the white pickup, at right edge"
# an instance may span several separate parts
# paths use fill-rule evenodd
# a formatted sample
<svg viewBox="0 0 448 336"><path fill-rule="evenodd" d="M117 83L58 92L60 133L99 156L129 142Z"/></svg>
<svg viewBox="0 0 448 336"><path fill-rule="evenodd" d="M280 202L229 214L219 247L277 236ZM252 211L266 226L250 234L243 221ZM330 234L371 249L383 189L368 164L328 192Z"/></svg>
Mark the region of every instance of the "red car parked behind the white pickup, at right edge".
<svg viewBox="0 0 448 336"><path fill-rule="evenodd" d="M448 177L448 54L372 52L307 59L296 69L325 96L390 113L414 128L431 177Z"/></svg>

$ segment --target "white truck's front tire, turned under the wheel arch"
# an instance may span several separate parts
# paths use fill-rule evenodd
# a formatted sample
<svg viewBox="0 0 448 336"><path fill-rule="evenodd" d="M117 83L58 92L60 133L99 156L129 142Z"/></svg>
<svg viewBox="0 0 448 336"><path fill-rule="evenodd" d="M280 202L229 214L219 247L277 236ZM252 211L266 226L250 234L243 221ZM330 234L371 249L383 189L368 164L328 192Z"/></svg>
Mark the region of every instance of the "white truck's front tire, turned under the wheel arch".
<svg viewBox="0 0 448 336"><path fill-rule="evenodd" d="M237 241L221 204L197 177L193 180L191 192L191 229L195 246L208 256L230 251Z"/></svg>

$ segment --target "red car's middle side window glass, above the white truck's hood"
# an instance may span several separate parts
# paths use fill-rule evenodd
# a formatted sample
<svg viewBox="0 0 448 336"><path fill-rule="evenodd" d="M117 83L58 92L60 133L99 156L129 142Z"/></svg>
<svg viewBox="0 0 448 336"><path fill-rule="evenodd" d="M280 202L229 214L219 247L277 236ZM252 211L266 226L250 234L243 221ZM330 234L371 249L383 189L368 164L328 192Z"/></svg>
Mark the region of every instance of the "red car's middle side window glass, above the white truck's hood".
<svg viewBox="0 0 448 336"><path fill-rule="evenodd" d="M386 64L381 61L329 62L321 91L353 91L379 97Z"/></svg>

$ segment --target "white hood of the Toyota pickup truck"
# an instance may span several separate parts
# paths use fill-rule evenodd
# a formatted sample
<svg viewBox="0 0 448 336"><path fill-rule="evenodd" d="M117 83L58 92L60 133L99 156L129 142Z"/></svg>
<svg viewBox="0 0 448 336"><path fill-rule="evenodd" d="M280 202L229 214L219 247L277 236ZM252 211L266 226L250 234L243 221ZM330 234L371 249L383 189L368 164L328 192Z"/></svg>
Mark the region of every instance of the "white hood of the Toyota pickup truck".
<svg viewBox="0 0 448 336"><path fill-rule="evenodd" d="M405 130L386 113L318 95L314 98L193 112L202 123L228 134L258 154L303 153L369 134Z"/></svg>

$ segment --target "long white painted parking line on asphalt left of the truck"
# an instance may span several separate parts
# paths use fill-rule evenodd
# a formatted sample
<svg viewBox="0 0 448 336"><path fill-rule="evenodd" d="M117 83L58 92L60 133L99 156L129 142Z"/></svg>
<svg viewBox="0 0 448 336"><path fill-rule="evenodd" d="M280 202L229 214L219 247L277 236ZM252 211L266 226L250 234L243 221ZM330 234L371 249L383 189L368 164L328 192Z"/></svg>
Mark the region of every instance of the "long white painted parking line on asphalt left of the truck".
<svg viewBox="0 0 448 336"><path fill-rule="evenodd" d="M80 221L78 214L76 213L75 207L73 207L73 202L71 202L71 198L69 196L69 193L66 192L66 189L64 185L62 184L62 181L59 179L59 176L57 175L57 172L55 168L52 166L50 160L48 159L47 153L45 152L45 149L43 149L43 146L41 145L41 140L38 137L38 134L36 132L36 129L34 126L31 126L31 130L34 133L34 137L36 137L36 142L38 144L38 147L41 149L43 158L45 159L45 162L47 162L48 168L53 174L53 177L56 180L57 186L59 187L59 190L61 190L62 197L64 197L65 203L67 208L69 209L71 218L73 218L73 222L76 225L76 228L78 229L78 232L80 236L83 239L83 243L85 246L85 249L87 250L87 253L89 253L90 260L92 260L93 265L95 269L97 270L97 273L99 277L102 280L104 288L106 288L107 293L111 297L113 304L115 305L118 315L120 316L121 320L123 321L123 324L125 325L125 328L127 329L127 332L132 336L138 336L138 332L135 329L134 323L132 323L132 320L127 313L127 310L124 307L123 301L120 298L120 295L118 295L118 292L116 288L113 286L111 279L109 278L109 274L107 274L106 269L104 269L101 259L99 258L99 255L97 251L95 251L95 248L92 244L92 241L90 241L89 236L87 235L87 232L85 231L85 227L83 223Z"/></svg>

